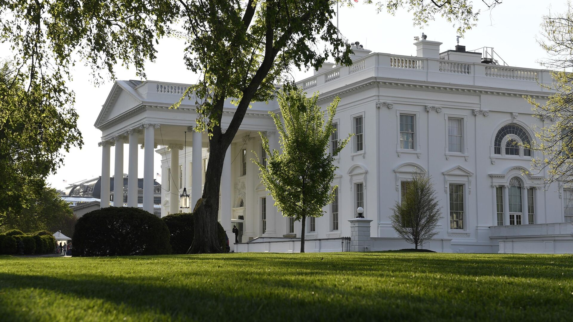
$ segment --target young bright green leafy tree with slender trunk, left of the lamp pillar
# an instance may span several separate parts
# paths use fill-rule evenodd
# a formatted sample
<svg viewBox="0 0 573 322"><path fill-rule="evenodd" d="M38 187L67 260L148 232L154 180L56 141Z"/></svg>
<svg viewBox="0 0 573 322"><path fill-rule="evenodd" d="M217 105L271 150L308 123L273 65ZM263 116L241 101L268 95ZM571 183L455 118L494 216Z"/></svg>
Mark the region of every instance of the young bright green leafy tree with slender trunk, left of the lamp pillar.
<svg viewBox="0 0 573 322"><path fill-rule="evenodd" d="M270 191L274 206L285 217L301 221L300 252L304 253L304 234L307 217L321 217L323 207L331 203L334 190L331 186L336 168L334 156L346 146L351 135L340 140L330 151L330 138L336 129L332 119L340 99L328 105L326 112L316 104L318 93L305 97L298 88L285 89L278 96L280 116L269 112L280 134L279 150L270 151L269 140L260 133L266 152L266 165L254 160L261 170L261 181ZM324 119L328 113L328 119ZM282 116L282 121L281 121Z"/></svg>

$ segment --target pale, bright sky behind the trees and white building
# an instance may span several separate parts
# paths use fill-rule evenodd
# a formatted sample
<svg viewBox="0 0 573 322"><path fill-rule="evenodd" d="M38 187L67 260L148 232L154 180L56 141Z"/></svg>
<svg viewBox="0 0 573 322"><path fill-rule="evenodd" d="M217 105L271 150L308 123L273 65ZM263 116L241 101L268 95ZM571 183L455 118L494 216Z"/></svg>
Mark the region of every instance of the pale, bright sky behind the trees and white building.
<svg viewBox="0 0 573 322"><path fill-rule="evenodd" d="M456 46L456 27L444 19L437 18L427 26L413 26L412 15L401 10L395 16L387 13L376 13L374 5L359 1L354 7L340 7L339 29L350 42L359 41L365 49L372 52L393 53L415 56L414 36L425 33L427 40L439 41L440 50L454 49ZM480 0L474 0L477 8L482 9L480 19L472 30L465 33L460 45L466 50L493 47L497 54L510 66L524 68L542 68L539 61L547 54L537 44L540 38L540 24L543 15L552 12L562 13L566 10L566 0L504 0L493 10L485 11ZM147 62L148 80L168 81L172 83L196 83L197 74L186 69L183 63L184 44L181 40L163 39L158 45L157 59ZM7 56L2 55L0 56ZM135 70L127 70L120 64L116 66L116 77L120 80L140 79ZM56 174L48 176L48 184L56 189L63 189L70 183L91 179L101 174L101 131L93 124L101 105L104 104L113 81L108 78L100 87L93 84L91 70L82 64L76 64L72 70L73 80L69 88L76 93L76 111L79 113L78 127L84 138L84 146L72 148L65 153L64 166ZM296 80L312 75L312 70L295 72ZM125 147L127 151L127 147ZM113 148L111 149L111 171L113 175ZM124 153L124 173L127 173L128 154ZM143 160L140 150L139 160ZM160 156L155 154L154 173L161 173ZM143 162L139 162L139 178L143 176ZM160 182L160 178L158 178Z"/></svg>

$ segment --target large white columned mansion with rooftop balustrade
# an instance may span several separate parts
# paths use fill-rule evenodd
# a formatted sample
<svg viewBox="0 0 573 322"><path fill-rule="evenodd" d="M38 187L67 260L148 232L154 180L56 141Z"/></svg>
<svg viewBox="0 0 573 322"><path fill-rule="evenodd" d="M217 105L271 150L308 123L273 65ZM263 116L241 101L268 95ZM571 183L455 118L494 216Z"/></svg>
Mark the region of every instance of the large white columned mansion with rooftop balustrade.
<svg viewBox="0 0 573 322"><path fill-rule="evenodd" d="M364 216L372 219L371 250L410 248L397 237L388 217L411 174L422 171L432 177L444 215L439 234L425 248L573 252L573 190L558 183L544 187L543 173L524 174L537 152L508 140L531 141L533 124L552 121L533 117L531 105L523 99L524 95L547 99L549 92L537 80L551 83L550 73L482 63L480 53L465 52L463 46L440 52L440 42L422 40L414 45L416 56L355 47L352 66L325 64L300 81L305 91L321 93L319 103L324 106L339 96L337 135L356 134L336 156L339 169L332 184L338 186L338 198L325 207L323 217L309 219L306 238L312 245L326 245L327 238L350 235L348 219L356 217L355 209L362 206ZM193 207L201 194L195 187L205 179L206 135L187 128L197 117L194 100L169 108L188 86L117 81L95 124L103 132L103 178L109 178L111 145L115 144L116 175L120 175L123 146L129 143L128 178L137 178L136 152L139 144L144 146L144 209L152 209L153 153L163 156L162 215L180 211L184 185ZM271 148L278 147L268 115L277 112L278 105L276 101L252 105L227 151L219 218L229 236L232 225L237 225L242 242L256 238L248 246L238 244L237 250L280 250L269 246L280 244L280 239L266 237L300 237L300 222L277 213L257 166L250 162L255 158L252 151L261 154L259 131L268 136ZM224 113L223 128L234 105L227 104ZM188 131L186 150L184 131ZM156 146L162 147L155 150ZM102 189L108 186L101 184ZM109 191L101 194L105 193ZM128 205L136 203L134 196L128 189ZM266 246L257 248L257 242ZM307 246L311 252L324 250L328 247Z"/></svg>

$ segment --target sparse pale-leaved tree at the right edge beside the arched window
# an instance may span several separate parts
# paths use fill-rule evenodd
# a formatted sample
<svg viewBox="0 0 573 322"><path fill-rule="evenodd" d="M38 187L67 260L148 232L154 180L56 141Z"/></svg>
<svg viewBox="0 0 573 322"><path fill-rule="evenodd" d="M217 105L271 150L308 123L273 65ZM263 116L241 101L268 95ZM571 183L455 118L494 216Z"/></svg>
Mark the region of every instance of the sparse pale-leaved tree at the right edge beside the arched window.
<svg viewBox="0 0 573 322"><path fill-rule="evenodd" d="M538 103L531 96L527 96L533 105L535 116L551 122L544 123L542 127L534 126L536 142L532 142L531 149L540 151L543 156L533 159L532 171L543 172L545 183L557 180L571 183L573 180L573 74L566 69L573 67L573 8L568 5L564 14L552 14L543 17L541 23L544 40L539 44L551 55L543 61L548 68L558 69L552 71L554 78L552 84L540 84L550 89L547 102ZM524 147L529 146L524 144Z"/></svg>

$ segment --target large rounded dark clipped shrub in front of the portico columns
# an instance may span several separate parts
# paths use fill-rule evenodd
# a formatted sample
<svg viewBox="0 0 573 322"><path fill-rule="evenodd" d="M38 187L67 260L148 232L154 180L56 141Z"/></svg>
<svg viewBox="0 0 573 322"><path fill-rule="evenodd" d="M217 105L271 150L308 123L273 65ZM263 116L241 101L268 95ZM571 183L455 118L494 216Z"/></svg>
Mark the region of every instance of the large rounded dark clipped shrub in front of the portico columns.
<svg viewBox="0 0 573 322"><path fill-rule="evenodd" d="M171 253L165 223L134 207L105 207L83 215L76 223L72 239L73 256Z"/></svg>

